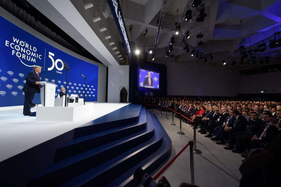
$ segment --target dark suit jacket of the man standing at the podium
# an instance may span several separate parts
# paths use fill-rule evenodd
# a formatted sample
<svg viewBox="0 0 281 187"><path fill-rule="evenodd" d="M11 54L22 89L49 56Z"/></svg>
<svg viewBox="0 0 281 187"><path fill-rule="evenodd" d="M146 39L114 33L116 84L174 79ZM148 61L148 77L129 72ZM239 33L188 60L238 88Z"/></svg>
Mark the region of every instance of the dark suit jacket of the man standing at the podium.
<svg viewBox="0 0 281 187"><path fill-rule="evenodd" d="M32 92L32 93L40 93L40 88L38 84L35 82L39 82L40 79L35 71L28 72L25 77L26 83L23 86L23 91Z"/></svg>

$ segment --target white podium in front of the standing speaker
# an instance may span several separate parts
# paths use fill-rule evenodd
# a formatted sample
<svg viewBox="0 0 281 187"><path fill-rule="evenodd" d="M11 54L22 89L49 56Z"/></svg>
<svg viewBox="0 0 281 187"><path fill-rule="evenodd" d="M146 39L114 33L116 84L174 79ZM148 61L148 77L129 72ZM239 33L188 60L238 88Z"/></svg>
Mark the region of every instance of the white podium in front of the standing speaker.
<svg viewBox="0 0 281 187"><path fill-rule="evenodd" d="M40 89L42 106L48 106L48 107L54 106L56 85L47 83L46 81L39 82L39 84L44 85Z"/></svg>

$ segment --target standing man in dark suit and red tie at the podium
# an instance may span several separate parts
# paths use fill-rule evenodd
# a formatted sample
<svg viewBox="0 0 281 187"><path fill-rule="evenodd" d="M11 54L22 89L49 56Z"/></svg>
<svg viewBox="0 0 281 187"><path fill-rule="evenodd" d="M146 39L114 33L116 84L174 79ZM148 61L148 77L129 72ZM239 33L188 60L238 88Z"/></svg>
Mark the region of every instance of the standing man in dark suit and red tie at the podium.
<svg viewBox="0 0 281 187"><path fill-rule="evenodd" d="M41 73L41 66L34 66L33 71L28 72L25 77L26 83L23 86L24 91L24 105L23 105L23 115L30 116L31 115L31 105L32 99L34 98L36 93L40 93L41 85L39 73Z"/></svg>

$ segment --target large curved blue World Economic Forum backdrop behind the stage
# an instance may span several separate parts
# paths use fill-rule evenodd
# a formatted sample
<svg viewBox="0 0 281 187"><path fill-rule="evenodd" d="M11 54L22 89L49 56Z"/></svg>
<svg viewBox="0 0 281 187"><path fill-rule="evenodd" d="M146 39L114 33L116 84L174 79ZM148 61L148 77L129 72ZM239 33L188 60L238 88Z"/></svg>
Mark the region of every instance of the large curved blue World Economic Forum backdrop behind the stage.
<svg viewBox="0 0 281 187"><path fill-rule="evenodd" d="M56 84L57 96L61 87L66 87L66 70L62 62L71 68L68 71L68 94L83 98L86 86L86 101L97 101L97 65L56 49L1 16L0 25L0 107L23 105L25 76L35 65L42 66L41 81ZM80 71L87 77L86 85ZM39 94L33 103L41 103Z"/></svg>

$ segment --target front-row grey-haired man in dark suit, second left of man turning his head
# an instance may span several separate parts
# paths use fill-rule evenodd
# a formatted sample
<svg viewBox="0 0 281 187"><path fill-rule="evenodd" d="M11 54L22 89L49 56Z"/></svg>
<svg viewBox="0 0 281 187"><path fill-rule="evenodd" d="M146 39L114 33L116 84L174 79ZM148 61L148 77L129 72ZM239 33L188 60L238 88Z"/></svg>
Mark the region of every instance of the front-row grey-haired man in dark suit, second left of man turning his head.
<svg viewBox="0 0 281 187"><path fill-rule="evenodd" d="M221 126L223 124L223 122L225 121L226 117L229 116L229 114L226 112L225 107L222 107L220 109L220 112L217 112L217 114L218 114L217 119L210 120L208 123L208 127L205 129L205 130L209 131L209 134L205 136L207 138L212 138L215 128L218 126Z"/></svg>

